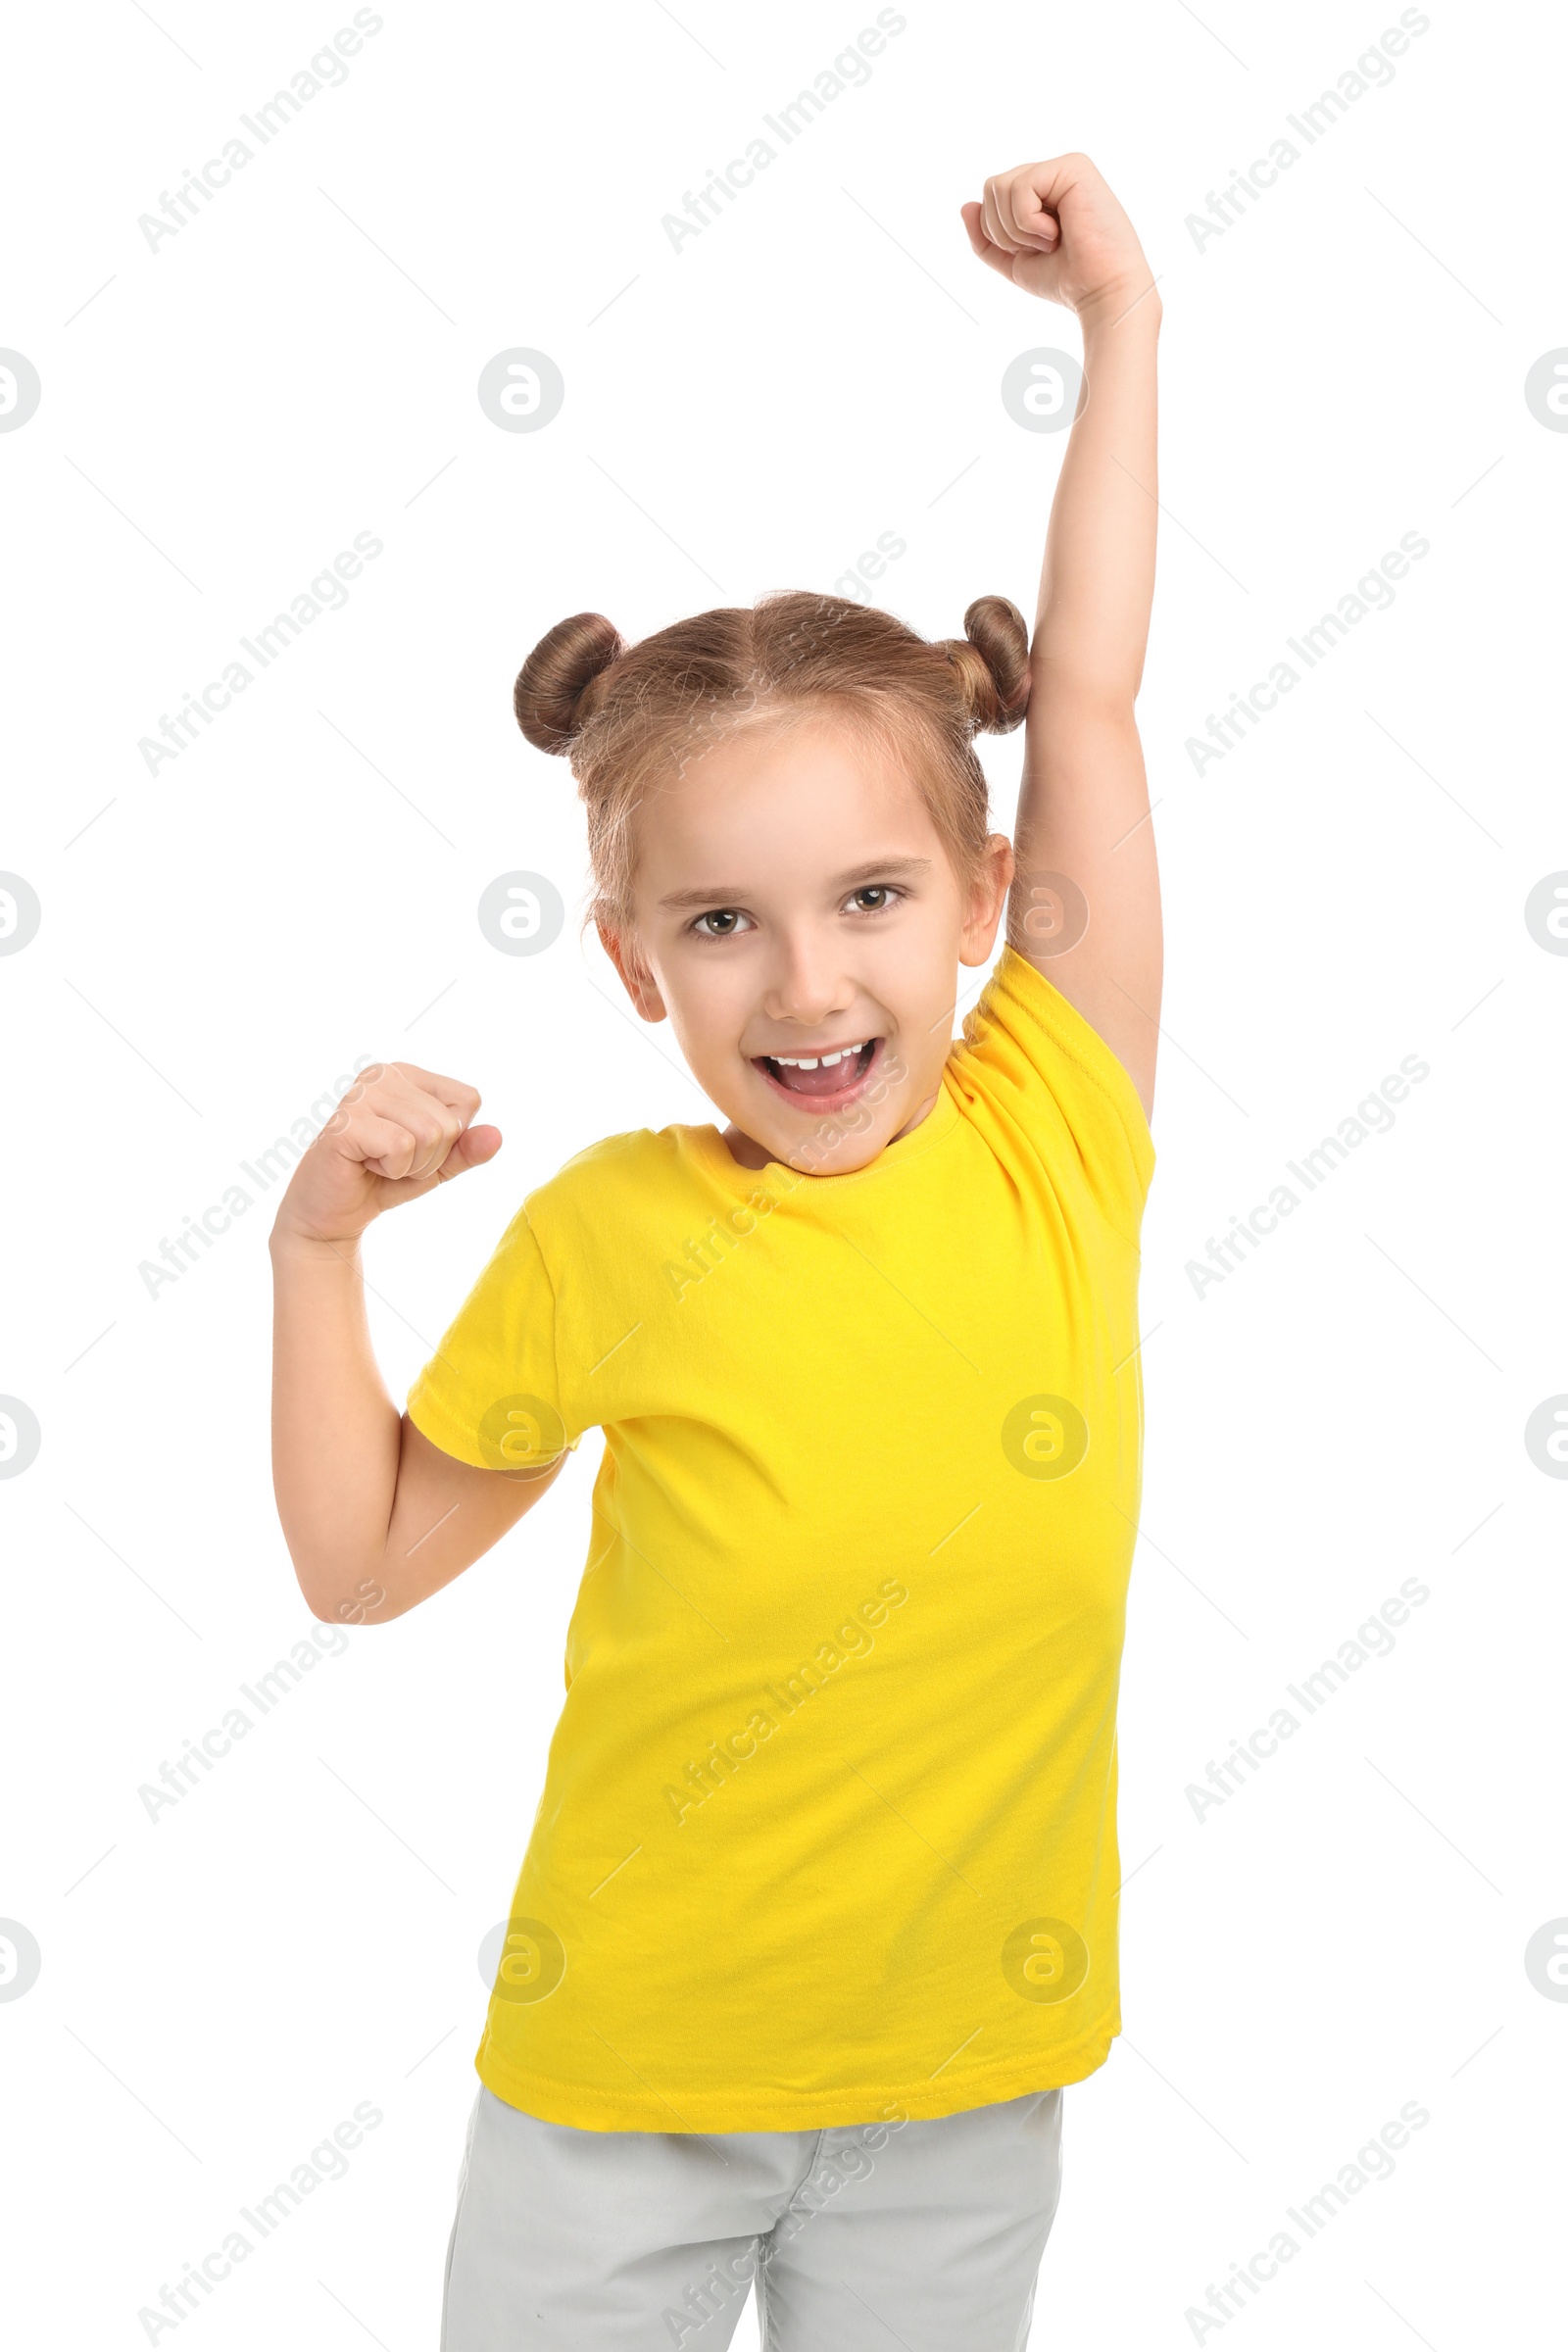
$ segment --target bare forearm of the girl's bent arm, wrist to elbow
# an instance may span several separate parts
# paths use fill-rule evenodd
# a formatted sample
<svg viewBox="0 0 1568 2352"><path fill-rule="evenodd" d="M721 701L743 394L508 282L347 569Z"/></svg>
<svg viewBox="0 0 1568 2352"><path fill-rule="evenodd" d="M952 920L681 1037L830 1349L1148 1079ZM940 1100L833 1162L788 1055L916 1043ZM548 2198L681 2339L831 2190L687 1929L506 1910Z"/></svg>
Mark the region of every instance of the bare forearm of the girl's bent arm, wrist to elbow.
<svg viewBox="0 0 1568 2352"><path fill-rule="evenodd" d="M273 1235L273 1486L317 1616L336 1616L386 1555L402 1416L364 1319L353 1242Z"/></svg>

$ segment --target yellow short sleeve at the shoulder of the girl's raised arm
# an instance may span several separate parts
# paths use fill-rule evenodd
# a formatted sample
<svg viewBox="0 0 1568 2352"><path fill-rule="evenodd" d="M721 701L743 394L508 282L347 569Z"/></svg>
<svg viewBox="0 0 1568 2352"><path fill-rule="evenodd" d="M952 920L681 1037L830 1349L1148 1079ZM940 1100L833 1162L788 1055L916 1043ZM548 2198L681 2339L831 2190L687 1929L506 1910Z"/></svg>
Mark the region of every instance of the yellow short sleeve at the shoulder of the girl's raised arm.
<svg viewBox="0 0 1568 2352"><path fill-rule="evenodd" d="M976 1108L1046 1164L1077 1162L1117 1223L1135 1225L1154 1141L1126 1068L1060 988L1006 946L950 1063Z"/></svg>

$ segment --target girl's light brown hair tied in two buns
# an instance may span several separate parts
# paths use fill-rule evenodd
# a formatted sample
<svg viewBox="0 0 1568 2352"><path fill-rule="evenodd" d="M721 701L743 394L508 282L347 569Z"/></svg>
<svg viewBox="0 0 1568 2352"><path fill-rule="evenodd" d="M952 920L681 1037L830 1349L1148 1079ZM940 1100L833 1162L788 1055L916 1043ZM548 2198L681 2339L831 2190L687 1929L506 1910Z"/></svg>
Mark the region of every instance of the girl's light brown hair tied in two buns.
<svg viewBox="0 0 1568 2352"><path fill-rule="evenodd" d="M588 809L590 920L632 922L632 811L738 727L842 715L910 762L954 873L980 866L990 830L976 734L1018 727L1030 633L1006 597L978 597L964 637L929 642L891 612L785 590L701 612L628 644L581 612L538 640L512 708L538 750L564 753Z"/></svg>

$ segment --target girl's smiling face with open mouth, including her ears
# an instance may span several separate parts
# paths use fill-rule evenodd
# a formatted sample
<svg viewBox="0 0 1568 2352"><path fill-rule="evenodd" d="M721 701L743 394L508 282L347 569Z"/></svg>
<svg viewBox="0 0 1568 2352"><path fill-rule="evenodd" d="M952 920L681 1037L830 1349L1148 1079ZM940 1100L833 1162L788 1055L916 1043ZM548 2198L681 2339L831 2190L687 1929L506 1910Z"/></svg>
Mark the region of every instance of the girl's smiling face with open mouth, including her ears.
<svg viewBox="0 0 1568 2352"><path fill-rule="evenodd" d="M957 967L990 955L1011 863L994 833L966 889L891 757L827 717L757 724L649 802L635 948L604 946L736 1160L842 1176L931 1110Z"/></svg>

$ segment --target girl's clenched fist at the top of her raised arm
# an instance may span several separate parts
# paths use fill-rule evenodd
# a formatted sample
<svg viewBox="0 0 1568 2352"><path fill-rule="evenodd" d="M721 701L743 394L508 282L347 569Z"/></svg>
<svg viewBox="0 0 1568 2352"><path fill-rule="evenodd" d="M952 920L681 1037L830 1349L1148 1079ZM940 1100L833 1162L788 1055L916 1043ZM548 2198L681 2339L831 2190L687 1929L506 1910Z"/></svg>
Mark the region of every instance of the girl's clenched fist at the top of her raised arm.
<svg viewBox="0 0 1568 2352"><path fill-rule="evenodd" d="M999 172L983 202L961 209L980 261L1081 318L1126 308L1152 285L1138 233L1088 155Z"/></svg>

